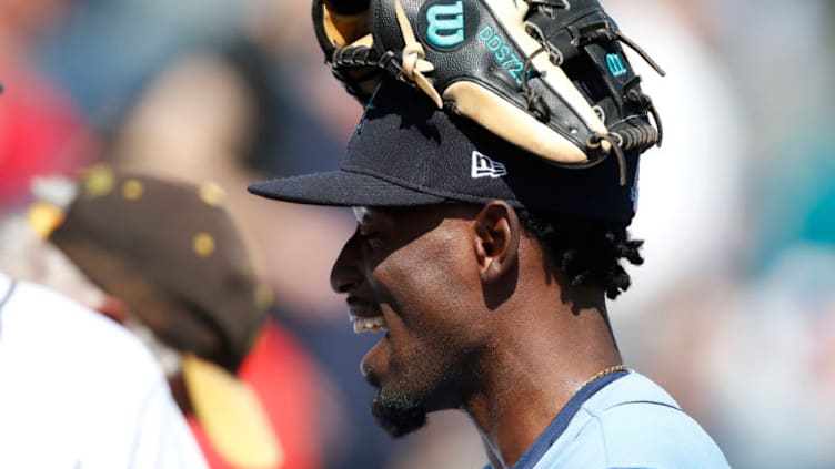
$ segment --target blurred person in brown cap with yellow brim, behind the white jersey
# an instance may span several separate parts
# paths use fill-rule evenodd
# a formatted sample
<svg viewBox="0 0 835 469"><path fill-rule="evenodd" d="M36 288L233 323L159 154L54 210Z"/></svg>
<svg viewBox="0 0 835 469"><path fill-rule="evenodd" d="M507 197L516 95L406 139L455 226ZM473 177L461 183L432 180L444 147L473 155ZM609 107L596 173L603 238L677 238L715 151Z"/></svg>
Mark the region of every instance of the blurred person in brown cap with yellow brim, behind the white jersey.
<svg viewBox="0 0 835 469"><path fill-rule="evenodd" d="M210 467L319 467L312 365L266 319L220 187L94 166L37 191L32 218L154 351Z"/></svg>

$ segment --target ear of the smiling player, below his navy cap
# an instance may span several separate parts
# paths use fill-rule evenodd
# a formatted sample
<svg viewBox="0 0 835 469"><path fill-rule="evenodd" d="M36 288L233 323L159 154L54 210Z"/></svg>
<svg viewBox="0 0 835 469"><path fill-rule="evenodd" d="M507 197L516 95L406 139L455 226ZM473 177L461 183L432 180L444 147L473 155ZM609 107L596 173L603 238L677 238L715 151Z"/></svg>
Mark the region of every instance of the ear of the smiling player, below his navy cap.
<svg viewBox="0 0 835 469"><path fill-rule="evenodd" d="M492 283L519 261L521 227L516 211L504 201L491 201L475 217L475 254L482 282Z"/></svg>

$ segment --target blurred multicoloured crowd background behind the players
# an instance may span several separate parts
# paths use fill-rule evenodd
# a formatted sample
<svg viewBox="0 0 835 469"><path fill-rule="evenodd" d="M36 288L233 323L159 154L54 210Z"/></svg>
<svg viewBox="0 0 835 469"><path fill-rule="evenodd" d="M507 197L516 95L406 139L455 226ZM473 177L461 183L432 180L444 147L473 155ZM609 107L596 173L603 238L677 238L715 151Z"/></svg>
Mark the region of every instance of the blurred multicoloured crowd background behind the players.
<svg viewBox="0 0 835 469"><path fill-rule="evenodd" d="M632 57L666 136L641 166L646 264L611 305L626 361L733 467L835 467L835 6L603 3L668 73ZM400 441L375 428L359 361L376 337L328 285L350 214L245 193L338 166L362 110L322 62L304 0L0 0L0 269L100 300L27 233L36 175L214 181L310 356L322 466L481 467L457 414Z"/></svg>

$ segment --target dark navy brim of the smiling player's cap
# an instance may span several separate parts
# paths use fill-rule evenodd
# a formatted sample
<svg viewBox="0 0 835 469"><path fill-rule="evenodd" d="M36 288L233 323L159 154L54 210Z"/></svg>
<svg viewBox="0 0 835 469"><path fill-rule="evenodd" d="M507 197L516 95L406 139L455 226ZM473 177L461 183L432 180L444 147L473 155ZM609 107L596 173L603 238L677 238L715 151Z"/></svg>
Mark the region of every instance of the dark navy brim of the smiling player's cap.
<svg viewBox="0 0 835 469"><path fill-rule="evenodd" d="M250 185L249 191L262 197L310 205L419 206L446 201L439 195L344 170L264 181Z"/></svg>

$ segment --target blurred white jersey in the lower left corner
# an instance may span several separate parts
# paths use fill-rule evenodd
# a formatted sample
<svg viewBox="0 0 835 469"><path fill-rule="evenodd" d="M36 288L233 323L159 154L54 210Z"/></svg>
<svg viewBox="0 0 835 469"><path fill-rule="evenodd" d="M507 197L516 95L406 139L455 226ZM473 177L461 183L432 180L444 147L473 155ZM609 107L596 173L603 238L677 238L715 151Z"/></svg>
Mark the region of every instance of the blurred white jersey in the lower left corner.
<svg viewBox="0 0 835 469"><path fill-rule="evenodd" d="M205 468L162 371L110 319L0 273L0 468Z"/></svg>

